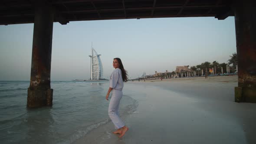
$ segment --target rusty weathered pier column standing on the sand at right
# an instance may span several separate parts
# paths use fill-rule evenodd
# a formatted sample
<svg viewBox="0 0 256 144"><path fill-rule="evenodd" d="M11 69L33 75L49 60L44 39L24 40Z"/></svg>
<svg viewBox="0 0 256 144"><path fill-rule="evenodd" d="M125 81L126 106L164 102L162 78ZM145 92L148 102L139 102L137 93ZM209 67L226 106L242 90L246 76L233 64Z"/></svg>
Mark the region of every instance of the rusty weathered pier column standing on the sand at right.
<svg viewBox="0 0 256 144"><path fill-rule="evenodd" d="M256 103L256 10L253 3L254 0L235 0L233 5L239 69L236 102Z"/></svg>

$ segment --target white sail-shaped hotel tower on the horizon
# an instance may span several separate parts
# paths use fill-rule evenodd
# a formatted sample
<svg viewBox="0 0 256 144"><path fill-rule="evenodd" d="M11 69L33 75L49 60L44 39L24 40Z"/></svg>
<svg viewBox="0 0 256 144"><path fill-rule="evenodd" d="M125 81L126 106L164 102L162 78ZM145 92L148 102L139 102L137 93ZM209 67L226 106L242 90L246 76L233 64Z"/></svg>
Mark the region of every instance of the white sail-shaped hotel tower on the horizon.
<svg viewBox="0 0 256 144"><path fill-rule="evenodd" d="M101 80L103 78L102 61L99 56L101 55L98 55L95 49L92 48L92 56L89 56L91 57L91 80Z"/></svg>

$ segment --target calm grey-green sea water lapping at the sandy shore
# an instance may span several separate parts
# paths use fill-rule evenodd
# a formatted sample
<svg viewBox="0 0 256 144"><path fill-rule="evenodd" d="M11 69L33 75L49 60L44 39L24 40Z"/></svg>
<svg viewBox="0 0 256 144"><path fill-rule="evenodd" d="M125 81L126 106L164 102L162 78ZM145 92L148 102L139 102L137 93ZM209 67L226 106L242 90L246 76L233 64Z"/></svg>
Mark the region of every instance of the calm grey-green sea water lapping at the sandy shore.
<svg viewBox="0 0 256 144"><path fill-rule="evenodd" d="M108 82L51 82L53 106L26 108L29 81L0 81L1 144L70 144L111 121ZM125 88L124 88L125 89ZM120 114L129 115L138 105L125 91Z"/></svg>

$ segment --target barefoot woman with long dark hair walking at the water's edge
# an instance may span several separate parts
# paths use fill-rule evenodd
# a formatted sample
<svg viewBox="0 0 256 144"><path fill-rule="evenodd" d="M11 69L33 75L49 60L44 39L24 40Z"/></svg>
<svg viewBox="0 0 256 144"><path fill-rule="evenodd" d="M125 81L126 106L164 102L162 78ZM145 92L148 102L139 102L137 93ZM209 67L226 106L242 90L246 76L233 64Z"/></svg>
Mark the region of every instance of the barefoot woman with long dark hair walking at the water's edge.
<svg viewBox="0 0 256 144"><path fill-rule="evenodd" d="M110 76L109 89L106 95L106 99L108 100L109 93L112 91L112 97L108 106L108 115L112 122L115 124L115 128L117 129L113 132L113 134L120 134L119 137L122 137L125 135L125 132L128 131L128 127L125 126L119 117L118 107L123 96L122 89L124 87L124 82L128 81L128 74L124 69L121 59L119 58L115 58L113 60L113 67L115 70Z"/></svg>

